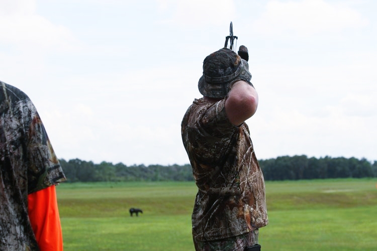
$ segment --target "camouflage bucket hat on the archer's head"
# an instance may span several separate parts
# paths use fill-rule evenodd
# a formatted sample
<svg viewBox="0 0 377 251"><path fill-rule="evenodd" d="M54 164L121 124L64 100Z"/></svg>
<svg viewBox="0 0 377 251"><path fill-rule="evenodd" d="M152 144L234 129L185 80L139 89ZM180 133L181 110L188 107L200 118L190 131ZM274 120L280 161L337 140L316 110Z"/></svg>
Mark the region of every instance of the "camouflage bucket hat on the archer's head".
<svg viewBox="0 0 377 251"><path fill-rule="evenodd" d="M252 85L248 69L246 60L234 51L222 48L204 59L203 76L198 83L199 91L207 97L223 98L235 81L244 80Z"/></svg>

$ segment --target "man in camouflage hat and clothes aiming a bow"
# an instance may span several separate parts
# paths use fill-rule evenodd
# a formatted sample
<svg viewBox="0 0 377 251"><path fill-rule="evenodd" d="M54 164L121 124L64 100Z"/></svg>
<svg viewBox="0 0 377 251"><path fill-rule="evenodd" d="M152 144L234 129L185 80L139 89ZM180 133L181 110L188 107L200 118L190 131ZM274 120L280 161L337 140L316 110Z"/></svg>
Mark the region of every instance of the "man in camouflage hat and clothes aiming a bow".
<svg viewBox="0 0 377 251"><path fill-rule="evenodd" d="M243 58L227 48L205 58L203 98L181 123L199 189L192 215L196 250L260 250L258 229L268 223L264 178L244 122L255 113L258 94Z"/></svg>

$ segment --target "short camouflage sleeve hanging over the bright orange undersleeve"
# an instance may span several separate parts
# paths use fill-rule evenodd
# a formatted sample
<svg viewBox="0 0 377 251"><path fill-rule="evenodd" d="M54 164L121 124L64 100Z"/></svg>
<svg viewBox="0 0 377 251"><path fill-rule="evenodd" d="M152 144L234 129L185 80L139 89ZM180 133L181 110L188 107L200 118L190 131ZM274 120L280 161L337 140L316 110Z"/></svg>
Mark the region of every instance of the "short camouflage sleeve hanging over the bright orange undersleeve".
<svg viewBox="0 0 377 251"><path fill-rule="evenodd" d="M31 116L27 133L28 193L30 194L58 184L66 178L38 112L33 104L28 106Z"/></svg>

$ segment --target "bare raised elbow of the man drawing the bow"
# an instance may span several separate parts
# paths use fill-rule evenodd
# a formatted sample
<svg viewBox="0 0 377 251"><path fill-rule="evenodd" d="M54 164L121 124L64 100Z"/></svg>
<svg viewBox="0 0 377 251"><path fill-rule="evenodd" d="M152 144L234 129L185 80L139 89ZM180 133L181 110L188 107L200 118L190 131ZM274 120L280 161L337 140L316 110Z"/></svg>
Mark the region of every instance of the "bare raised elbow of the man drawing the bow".
<svg viewBox="0 0 377 251"><path fill-rule="evenodd" d="M235 82L225 101L225 111L229 121L235 126L239 126L254 115L257 107L258 93L254 87L242 80Z"/></svg>

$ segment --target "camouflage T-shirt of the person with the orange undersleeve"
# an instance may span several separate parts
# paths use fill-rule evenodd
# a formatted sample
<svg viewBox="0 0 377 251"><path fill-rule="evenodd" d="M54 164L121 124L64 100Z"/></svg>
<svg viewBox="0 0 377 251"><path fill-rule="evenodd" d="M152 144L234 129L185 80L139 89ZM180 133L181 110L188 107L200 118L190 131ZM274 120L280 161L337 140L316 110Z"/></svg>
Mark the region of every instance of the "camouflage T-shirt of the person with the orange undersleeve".
<svg viewBox="0 0 377 251"><path fill-rule="evenodd" d="M29 97L0 81L0 250L39 250L28 194L66 178Z"/></svg>

